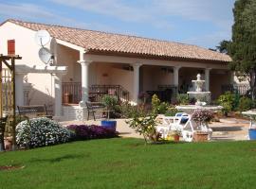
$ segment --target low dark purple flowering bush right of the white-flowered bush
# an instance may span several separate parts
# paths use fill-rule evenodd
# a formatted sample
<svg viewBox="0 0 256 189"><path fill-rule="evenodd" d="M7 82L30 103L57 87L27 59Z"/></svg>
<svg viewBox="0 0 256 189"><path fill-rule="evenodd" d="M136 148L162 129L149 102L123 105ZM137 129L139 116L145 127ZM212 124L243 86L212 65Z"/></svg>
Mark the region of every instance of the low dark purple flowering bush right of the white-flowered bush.
<svg viewBox="0 0 256 189"><path fill-rule="evenodd" d="M86 125L70 125L67 129L73 132L73 140L89 140L113 138L118 136L118 132L113 129L106 129L101 126L86 126Z"/></svg>

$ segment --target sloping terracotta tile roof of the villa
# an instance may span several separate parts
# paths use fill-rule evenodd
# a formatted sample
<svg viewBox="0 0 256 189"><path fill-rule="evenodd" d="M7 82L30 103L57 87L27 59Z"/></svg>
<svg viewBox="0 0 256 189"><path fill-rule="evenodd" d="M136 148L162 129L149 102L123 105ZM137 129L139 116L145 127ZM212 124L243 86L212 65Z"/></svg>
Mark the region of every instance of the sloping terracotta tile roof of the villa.
<svg viewBox="0 0 256 189"><path fill-rule="evenodd" d="M191 44L159 41L66 26L51 26L18 20L8 21L32 30L46 29L52 37L81 46L89 52L125 53L137 56L151 56L155 57L155 59L165 57L170 58L170 60L177 58L184 60L231 60L228 55Z"/></svg>

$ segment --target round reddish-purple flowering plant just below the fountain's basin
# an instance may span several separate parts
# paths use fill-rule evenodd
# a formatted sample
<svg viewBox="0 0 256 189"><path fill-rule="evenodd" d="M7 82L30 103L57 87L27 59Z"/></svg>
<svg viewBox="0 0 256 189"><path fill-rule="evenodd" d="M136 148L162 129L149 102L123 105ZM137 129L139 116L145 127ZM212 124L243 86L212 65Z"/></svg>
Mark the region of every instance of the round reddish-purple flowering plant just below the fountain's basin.
<svg viewBox="0 0 256 189"><path fill-rule="evenodd" d="M192 120L199 125L208 124L213 118L213 112L209 110L196 110L192 113Z"/></svg>

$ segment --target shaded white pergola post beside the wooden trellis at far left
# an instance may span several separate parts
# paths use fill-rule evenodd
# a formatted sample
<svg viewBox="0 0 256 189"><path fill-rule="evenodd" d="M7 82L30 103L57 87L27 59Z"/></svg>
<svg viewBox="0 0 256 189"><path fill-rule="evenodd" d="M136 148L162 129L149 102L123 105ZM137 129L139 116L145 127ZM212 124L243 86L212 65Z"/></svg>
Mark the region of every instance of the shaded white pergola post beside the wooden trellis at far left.
<svg viewBox="0 0 256 189"><path fill-rule="evenodd" d="M15 76L15 101L16 106L24 106L24 83L25 74L16 73Z"/></svg>

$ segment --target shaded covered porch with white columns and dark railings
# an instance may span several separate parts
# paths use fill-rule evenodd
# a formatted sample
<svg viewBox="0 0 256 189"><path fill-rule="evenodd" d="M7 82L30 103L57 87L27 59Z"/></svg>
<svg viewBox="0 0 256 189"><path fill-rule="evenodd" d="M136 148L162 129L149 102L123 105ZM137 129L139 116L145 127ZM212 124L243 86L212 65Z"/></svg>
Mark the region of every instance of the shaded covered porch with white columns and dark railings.
<svg viewBox="0 0 256 189"><path fill-rule="evenodd" d="M212 99L221 94L221 86L232 79L227 64L208 61L151 60L105 54L87 54L60 45L71 55L63 61L68 66L63 77L63 105L80 105L101 101L104 94L116 94L121 101L137 104L141 93L158 94L171 102L177 93L192 91L192 79L200 73L205 90Z"/></svg>

